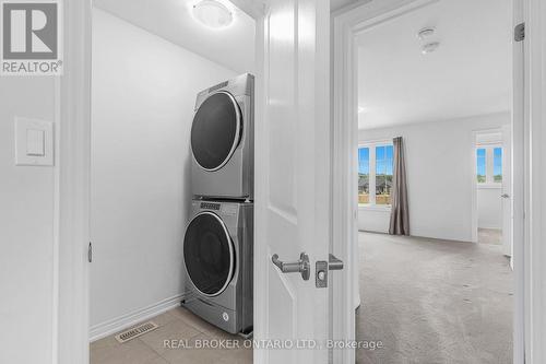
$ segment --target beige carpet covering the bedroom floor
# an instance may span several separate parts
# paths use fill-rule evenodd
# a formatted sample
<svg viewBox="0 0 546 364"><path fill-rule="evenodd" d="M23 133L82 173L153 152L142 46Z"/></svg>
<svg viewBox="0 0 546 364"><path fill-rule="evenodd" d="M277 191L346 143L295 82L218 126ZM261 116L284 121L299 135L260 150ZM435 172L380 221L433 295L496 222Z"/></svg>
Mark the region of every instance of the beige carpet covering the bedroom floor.
<svg viewBox="0 0 546 364"><path fill-rule="evenodd" d="M359 234L359 364L512 363L512 271L500 247Z"/></svg>

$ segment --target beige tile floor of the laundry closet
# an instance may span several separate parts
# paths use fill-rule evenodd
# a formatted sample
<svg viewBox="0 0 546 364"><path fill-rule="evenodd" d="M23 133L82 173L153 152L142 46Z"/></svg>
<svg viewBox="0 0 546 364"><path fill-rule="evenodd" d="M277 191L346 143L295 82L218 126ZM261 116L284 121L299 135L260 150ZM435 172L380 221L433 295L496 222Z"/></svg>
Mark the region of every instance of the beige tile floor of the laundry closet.
<svg viewBox="0 0 546 364"><path fill-rule="evenodd" d="M250 364L252 350L244 348L244 340L205 322L185 308L177 307L150 319L159 327L154 331L119 343L114 336L97 340L90 345L91 364ZM197 341L229 339L238 349L190 349ZM175 340L166 348L165 340ZM187 340L187 347L174 348ZM215 341L216 340L216 341Z"/></svg>

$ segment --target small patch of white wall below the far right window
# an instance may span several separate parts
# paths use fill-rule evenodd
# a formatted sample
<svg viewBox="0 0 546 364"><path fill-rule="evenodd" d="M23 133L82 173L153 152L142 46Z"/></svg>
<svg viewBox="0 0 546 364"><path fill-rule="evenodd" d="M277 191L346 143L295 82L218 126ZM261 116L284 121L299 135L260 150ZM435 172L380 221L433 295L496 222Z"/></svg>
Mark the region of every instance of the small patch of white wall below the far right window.
<svg viewBox="0 0 546 364"><path fill-rule="evenodd" d="M477 189L478 227L502 228L501 186L482 187Z"/></svg>

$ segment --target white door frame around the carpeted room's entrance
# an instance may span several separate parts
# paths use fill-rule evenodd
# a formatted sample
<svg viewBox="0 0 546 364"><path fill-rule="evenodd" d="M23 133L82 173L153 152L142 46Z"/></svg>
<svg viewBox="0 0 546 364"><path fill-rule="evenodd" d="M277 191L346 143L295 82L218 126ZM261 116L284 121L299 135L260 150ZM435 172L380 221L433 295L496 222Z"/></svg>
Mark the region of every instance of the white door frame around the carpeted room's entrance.
<svg viewBox="0 0 546 364"><path fill-rule="evenodd" d="M354 322L347 321L351 315L340 312L355 309L360 303L357 261L357 161L354 153L358 145L358 95L354 37L363 28L437 1L439 0L370 1L348 5L332 14L332 196L336 197L332 204L332 240L333 251L339 251L347 260L347 279L352 281L352 287L344 286L342 294L334 294L334 317L343 322L335 325L334 318L334 334L339 334L341 330L346 330L348 336L355 334ZM513 122L512 140L517 142L512 143L512 161L517 162L512 164L518 168L512 168L512 174L521 176L514 178L512 184L512 196L517 201L513 230L513 362L523 364L526 360L527 363L544 363L546 314L543 308L546 305L546 265L543 262L546 262L546 248L541 247L541 225L546 223L546 214L543 216L541 203L531 204L530 197L532 193L535 201L546 202L539 199L544 196L541 183L544 186L546 179L546 168L541 169L541 166L546 165L546 156L541 158L541 145L546 136L536 132L542 130L542 120L546 120L546 103L543 101L546 96L546 82L541 82L546 79L546 71L541 68L542 63L546 62L546 5L541 3L541 0L513 0L513 9L514 25L525 22L529 30L525 42L514 44L513 63L513 119L517 122ZM532 133L532 130L535 130L535 133ZM531 156L533 164L530 162ZM535 173L532 174L532 171ZM532 218L537 223L533 224ZM541 219L543 220L539 221ZM534 254L531 255L531 251Z"/></svg>

